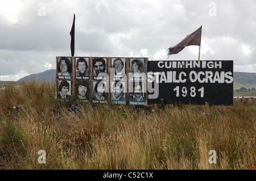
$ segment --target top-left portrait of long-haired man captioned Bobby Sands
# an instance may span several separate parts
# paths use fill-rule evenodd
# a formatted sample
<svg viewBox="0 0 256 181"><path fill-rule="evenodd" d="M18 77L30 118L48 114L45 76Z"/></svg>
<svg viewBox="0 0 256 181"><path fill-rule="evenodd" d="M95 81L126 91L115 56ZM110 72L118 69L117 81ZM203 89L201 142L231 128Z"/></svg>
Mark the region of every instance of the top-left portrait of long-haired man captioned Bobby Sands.
<svg viewBox="0 0 256 181"><path fill-rule="evenodd" d="M72 79L71 57L57 57L57 79Z"/></svg>

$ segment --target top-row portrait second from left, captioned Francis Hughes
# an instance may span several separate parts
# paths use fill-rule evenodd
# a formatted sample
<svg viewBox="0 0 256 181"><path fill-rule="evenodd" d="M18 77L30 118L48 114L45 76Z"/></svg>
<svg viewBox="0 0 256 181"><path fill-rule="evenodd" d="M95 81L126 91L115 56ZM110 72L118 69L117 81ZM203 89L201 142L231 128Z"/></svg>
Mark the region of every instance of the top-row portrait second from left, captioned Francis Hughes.
<svg viewBox="0 0 256 181"><path fill-rule="evenodd" d="M89 80L89 57L76 57L76 79Z"/></svg>

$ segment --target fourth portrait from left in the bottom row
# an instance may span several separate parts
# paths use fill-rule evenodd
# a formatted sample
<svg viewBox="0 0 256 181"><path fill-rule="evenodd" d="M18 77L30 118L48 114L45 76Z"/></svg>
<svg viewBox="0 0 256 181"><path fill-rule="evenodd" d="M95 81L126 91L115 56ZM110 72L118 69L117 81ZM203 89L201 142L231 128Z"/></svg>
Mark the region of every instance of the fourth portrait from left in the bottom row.
<svg viewBox="0 0 256 181"><path fill-rule="evenodd" d="M114 104L126 104L126 82L111 82L111 100Z"/></svg>

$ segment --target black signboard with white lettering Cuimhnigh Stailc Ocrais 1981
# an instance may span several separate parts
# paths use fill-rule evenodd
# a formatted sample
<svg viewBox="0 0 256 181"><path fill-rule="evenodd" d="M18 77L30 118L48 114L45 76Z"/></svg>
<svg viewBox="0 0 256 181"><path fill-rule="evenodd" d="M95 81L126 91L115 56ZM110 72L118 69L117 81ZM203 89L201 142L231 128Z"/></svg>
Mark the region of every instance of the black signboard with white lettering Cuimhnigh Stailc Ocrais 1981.
<svg viewBox="0 0 256 181"><path fill-rule="evenodd" d="M148 61L148 104L233 105L233 61Z"/></svg>

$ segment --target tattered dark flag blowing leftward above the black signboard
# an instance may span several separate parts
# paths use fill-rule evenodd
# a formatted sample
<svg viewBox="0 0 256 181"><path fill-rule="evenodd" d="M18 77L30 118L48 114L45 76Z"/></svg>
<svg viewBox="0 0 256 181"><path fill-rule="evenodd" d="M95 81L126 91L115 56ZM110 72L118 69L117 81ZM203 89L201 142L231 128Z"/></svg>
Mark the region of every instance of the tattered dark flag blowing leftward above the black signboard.
<svg viewBox="0 0 256 181"><path fill-rule="evenodd" d="M180 41L180 43L178 43L174 47L168 48L169 49L168 55L177 54L181 50L183 50L186 46L189 46L189 45L199 45L200 46L201 33L202 33L202 26L200 28L198 28L196 31L194 31L193 33L187 35L183 40Z"/></svg>

